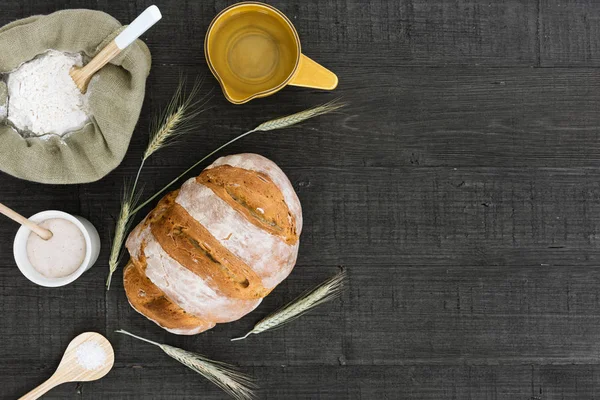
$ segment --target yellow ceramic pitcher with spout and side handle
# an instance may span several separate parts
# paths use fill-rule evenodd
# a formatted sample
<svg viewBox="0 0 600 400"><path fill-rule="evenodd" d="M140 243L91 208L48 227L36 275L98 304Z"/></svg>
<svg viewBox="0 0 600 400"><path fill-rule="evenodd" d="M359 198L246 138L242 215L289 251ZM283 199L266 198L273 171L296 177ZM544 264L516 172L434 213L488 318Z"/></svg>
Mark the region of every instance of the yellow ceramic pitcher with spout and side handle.
<svg viewBox="0 0 600 400"><path fill-rule="evenodd" d="M206 33L204 54L234 104L286 85L332 90L338 84L333 72L302 54L292 22L264 3L243 2L221 11Z"/></svg>

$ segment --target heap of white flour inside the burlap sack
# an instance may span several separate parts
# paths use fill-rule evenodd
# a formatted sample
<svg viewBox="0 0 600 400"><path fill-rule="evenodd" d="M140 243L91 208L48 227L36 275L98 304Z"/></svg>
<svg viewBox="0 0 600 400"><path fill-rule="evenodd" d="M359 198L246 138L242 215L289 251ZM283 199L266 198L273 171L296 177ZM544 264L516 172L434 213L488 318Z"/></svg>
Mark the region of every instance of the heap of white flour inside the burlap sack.
<svg viewBox="0 0 600 400"><path fill-rule="evenodd" d="M86 124L87 96L69 75L81 64L80 54L48 50L8 75L8 120L21 135L62 136Z"/></svg>

